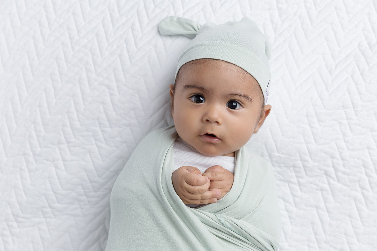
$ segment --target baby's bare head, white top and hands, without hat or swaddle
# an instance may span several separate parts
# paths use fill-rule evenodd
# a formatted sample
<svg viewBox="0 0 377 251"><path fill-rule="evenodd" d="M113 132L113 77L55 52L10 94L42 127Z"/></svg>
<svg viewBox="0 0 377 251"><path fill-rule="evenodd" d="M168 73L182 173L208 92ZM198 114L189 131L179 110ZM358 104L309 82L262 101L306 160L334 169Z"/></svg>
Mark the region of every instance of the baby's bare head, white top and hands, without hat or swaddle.
<svg viewBox="0 0 377 251"><path fill-rule="evenodd" d="M258 131L271 105L264 105L253 76L217 59L185 63L170 85L170 95L181 139L174 144L174 189L185 204L216 202L233 184L234 153Z"/></svg>

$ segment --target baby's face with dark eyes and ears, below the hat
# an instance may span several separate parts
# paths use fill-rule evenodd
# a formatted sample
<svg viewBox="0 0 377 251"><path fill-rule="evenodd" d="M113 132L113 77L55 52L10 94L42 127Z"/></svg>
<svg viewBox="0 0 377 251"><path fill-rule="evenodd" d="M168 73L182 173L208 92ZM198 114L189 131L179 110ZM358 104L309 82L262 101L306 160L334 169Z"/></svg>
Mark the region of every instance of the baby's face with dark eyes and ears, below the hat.
<svg viewBox="0 0 377 251"><path fill-rule="evenodd" d="M174 92L174 93L173 93ZM257 81L221 60L196 61L179 71L170 85L172 117L179 137L202 154L234 156L263 124Z"/></svg>

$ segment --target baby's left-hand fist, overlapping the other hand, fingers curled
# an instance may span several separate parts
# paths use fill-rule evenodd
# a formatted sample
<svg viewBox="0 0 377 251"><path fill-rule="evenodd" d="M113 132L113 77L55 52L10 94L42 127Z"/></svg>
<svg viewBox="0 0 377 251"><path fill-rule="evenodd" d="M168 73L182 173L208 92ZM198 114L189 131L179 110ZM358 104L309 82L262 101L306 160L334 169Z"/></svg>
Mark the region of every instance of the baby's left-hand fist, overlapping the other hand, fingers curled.
<svg viewBox="0 0 377 251"><path fill-rule="evenodd" d="M208 170L208 169L207 169ZM218 189L210 188L210 179L202 176L199 169L193 166L182 166L172 174L173 187L184 204L208 204L217 201L221 196Z"/></svg>

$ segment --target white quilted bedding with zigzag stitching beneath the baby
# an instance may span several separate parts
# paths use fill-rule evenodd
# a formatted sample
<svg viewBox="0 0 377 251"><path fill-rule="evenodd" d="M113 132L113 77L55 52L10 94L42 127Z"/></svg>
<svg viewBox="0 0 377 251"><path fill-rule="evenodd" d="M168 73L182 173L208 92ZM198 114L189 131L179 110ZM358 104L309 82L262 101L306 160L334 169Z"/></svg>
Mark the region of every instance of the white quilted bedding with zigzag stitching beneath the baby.
<svg viewBox="0 0 377 251"><path fill-rule="evenodd" d="M169 15L248 16L271 44L273 109L248 147L276 173L280 249L377 249L377 4L5 1L0 8L0 249L101 250L138 142L172 124L190 41ZM374 73L373 73L374 72Z"/></svg>

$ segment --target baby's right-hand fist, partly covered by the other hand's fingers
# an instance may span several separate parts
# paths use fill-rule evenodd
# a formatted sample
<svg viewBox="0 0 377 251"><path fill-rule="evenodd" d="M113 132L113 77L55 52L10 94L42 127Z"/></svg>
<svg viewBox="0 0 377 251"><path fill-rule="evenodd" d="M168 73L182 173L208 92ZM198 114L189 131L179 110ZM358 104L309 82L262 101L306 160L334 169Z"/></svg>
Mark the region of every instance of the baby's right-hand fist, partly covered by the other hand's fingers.
<svg viewBox="0 0 377 251"><path fill-rule="evenodd" d="M208 190L220 190L221 195L217 199L224 197L233 186L234 175L222 166L211 166L203 173L211 182Z"/></svg>

